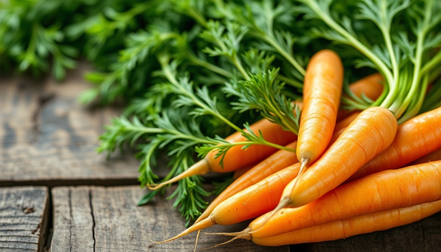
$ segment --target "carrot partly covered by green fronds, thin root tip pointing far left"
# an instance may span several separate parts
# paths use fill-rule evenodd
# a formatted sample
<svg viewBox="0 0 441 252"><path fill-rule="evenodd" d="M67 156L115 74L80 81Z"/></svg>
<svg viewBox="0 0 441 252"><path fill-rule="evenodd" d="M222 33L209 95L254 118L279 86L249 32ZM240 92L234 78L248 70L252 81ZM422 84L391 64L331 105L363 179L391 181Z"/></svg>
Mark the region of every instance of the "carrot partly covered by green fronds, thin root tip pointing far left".
<svg viewBox="0 0 441 252"><path fill-rule="evenodd" d="M278 145L286 145L297 139L297 136L290 132L285 131L282 126L271 123L266 119L261 119L250 126L252 132L261 133L263 138L271 143ZM245 130L247 131L247 130ZM247 141L247 139L240 133L235 132L232 135L225 138L230 143L238 143ZM238 170L248 164L262 160L268 157L277 149L271 146L253 144L247 149L242 149L243 145L236 145L231 147L223 158L223 166L220 164L220 158L216 157L217 152L210 152L205 158L197 161L189 169L179 174L178 176L162 182L158 185L148 185L151 190L159 189L165 185L177 182L183 178L193 175L205 174L209 171L213 172L231 172Z"/></svg>

